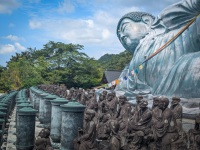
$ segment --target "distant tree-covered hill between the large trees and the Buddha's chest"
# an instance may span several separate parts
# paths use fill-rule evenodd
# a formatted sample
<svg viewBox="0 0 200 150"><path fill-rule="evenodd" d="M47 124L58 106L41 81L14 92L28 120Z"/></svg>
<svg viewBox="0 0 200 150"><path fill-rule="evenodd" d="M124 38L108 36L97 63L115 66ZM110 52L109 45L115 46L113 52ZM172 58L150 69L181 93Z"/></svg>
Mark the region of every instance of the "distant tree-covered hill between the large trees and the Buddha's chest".
<svg viewBox="0 0 200 150"><path fill-rule="evenodd" d="M97 61L101 64L104 70L123 70L124 67L131 61L133 55L125 50L119 54L105 54Z"/></svg>

